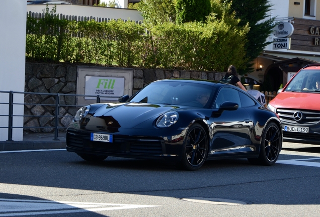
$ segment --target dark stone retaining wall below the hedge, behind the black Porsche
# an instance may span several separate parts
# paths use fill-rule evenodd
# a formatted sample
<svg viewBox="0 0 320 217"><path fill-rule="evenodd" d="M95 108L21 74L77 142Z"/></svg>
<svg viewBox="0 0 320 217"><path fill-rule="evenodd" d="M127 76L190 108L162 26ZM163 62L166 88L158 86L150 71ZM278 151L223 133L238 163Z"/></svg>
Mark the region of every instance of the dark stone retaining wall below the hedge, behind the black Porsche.
<svg viewBox="0 0 320 217"><path fill-rule="evenodd" d="M25 92L35 93L25 94L26 132L54 132L56 93L62 94L59 99L61 104L59 126L66 127L70 123L78 110L78 107L74 106L76 97L64 94L76 94L78 66L80 65L26 62ZM223 75L221 72L134 68L133 93L155 80L168 78L220 80ZM64 130L65 128L60 128L60 131Z"/></svg>

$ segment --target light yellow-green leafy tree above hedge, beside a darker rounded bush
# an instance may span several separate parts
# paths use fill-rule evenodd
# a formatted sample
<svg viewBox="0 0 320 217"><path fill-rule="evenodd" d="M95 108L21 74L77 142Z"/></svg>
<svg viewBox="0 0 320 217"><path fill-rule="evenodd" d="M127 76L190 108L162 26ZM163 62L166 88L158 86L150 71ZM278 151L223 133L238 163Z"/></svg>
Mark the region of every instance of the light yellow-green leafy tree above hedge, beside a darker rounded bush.
<svg viewBox="0 0 320 217"><path fill-rule="evenodd" d="M176 21L176 0L141 0L135 5L144 23L156 25Z"/></svg>

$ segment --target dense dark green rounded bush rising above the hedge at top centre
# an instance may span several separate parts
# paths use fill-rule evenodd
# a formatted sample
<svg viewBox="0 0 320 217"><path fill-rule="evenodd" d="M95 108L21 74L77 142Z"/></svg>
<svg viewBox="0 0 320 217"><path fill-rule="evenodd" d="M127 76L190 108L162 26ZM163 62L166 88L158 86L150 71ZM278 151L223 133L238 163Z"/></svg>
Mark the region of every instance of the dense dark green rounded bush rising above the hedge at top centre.
<svg viewBox="0 0 320 217"><path fill-rule="evenodd" d="M211 12L210 0L177 0L177 24L205 22Z"/></svg>

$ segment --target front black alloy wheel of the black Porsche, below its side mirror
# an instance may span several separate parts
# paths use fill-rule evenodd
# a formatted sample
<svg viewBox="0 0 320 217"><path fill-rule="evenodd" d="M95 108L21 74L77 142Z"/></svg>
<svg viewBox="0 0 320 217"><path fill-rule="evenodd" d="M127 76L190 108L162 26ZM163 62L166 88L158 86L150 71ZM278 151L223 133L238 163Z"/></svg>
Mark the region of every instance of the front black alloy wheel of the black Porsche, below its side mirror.
<svg viewBox="0 0 320 217"><path fill-rule="evenodd" d="M186 170L198 170L207 158L208 137L200 124L193 124L183 142L181 166Z"/></svg>

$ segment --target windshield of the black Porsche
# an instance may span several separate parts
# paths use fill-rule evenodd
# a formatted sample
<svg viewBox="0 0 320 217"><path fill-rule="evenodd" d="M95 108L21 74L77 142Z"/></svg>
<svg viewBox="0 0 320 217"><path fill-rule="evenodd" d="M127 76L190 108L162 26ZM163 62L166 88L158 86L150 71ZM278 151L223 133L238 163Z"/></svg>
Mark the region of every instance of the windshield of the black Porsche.
<svg viewBox="0 0 320 217"><path fill-rule="evenodd" d="M209 104L214 90L215 88L211 85L198 83L155 82L143 88L131 98L130 102L204 107Z"/></svg>

